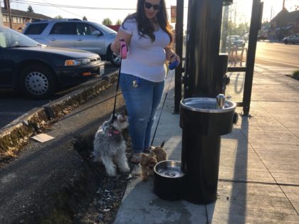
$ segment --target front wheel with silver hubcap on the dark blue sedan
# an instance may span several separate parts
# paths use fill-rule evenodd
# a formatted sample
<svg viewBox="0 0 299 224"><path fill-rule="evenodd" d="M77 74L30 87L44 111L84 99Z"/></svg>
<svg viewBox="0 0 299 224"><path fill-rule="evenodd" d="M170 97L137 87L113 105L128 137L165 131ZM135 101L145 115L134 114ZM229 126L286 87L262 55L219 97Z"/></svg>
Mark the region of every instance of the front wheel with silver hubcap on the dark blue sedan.
<svg viewBox="0 0 299 224"><path fill-rule="evenodd" d="M23 69L20 79L21 91L34 99L44 99L57 90L53 72L41 65L31 65Z"/></svg>

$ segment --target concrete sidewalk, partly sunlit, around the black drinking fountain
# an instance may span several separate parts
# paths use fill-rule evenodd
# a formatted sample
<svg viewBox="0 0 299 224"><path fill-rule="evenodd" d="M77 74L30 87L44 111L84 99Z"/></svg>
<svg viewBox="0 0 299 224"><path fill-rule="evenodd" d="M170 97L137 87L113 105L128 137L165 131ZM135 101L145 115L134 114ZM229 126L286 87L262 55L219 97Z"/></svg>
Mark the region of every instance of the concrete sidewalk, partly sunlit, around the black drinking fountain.
<svg viewBox="0 0 299 224"><path fill-rule="evenodd" d="M299 81L260 72L253 77L251 117L239 116L233 132L221 137L216 203L164 201L153 193L152 178L144 183L139 176L127 186L115 224L299 223ZM231 74L230 100L241 102L243 80L242 73ZM182 129L179 114L172 114L173 96L169 73L154 145L165 141L169 159L180 161Z"/></svg>

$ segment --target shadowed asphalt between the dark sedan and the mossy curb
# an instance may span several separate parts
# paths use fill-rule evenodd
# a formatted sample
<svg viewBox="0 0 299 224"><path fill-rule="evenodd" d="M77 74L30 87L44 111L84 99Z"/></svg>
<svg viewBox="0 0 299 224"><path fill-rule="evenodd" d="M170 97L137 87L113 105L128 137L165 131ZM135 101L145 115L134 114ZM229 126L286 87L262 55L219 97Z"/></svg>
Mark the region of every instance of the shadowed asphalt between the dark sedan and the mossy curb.
<svg viewBox="0 0 299 224"><path fill-rule="evenodd" d="M116 70L113 65L110 63L105 63L105 74ZM93 81L97 82L100 78L94 78ZM31 100L29 98L24 97L19 92L14 90L1 90L0 89L0 129L1 127L6 126L14 119L20 117L24 113L32 110L35 107L41 107L46 105L48 102L58 99L59 97L63 97L70 92L78 90L82 85L77 85L75 87L71 87L67 90L63 90L61 92L56 93L51 99L48 100Z"/></svg>

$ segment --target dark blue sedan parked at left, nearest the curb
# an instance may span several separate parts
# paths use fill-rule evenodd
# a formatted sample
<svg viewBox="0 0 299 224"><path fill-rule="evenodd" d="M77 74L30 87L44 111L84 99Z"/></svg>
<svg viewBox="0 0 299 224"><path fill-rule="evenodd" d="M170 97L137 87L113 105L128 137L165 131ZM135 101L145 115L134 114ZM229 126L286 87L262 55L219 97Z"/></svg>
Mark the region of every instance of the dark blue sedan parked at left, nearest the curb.
<svg viewBox="0 0 299 224"><path fill-rule="evenodd" d="M35 99L62 87L103 75L100 56L83 50L52 48L0 26L0 87L14 87Z"/></svg>

